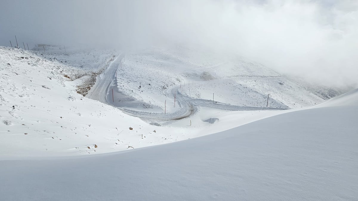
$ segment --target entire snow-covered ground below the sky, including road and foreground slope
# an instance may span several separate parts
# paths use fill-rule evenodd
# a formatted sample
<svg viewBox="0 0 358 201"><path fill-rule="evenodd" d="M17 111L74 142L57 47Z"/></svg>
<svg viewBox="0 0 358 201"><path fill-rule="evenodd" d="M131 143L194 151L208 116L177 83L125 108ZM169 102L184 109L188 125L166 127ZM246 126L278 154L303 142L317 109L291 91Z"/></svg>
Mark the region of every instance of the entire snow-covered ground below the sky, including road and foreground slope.
<svg viewBox="0 0 358 201"><path fill-rule="evenodd" d="M4 200L358 197L357 90L183 47L46 51L0 47Z"/></svg>

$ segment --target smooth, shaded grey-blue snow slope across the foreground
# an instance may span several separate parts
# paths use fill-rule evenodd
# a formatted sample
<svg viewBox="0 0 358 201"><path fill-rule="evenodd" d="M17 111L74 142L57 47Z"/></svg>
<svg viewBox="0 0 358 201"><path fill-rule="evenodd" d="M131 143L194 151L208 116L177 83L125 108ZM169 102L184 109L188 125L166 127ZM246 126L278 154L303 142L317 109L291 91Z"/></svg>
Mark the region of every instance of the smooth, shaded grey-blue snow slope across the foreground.
<svg viewBox="0 0 358 201"><path fill-rule="evenodd" d="M4 200L356 200L355 90L328 107L92 157L1 161ZM340 99L350 100L341 106ZM337 103L337 104L336 104Z"/></svg>

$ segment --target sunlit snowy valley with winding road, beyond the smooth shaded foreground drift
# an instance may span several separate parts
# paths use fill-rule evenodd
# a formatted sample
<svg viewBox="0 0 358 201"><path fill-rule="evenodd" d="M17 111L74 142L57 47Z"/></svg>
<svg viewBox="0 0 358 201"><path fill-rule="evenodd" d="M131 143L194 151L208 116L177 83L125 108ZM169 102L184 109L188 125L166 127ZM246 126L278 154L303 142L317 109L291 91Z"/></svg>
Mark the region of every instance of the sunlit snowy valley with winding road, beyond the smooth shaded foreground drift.
<svg viewBox="0 0 358 201"><path fill-rule="evenodd" d="M1 156L83 155L153 146L224 131L287 112L281 110L287 106L323 101L260 64L239 60L228 68L213 55L197 53L194 58L182 47L126 54L46 49L0 48ZM241 75L230 77L233 72ZM108 81L98 88L99 80Z"/></svg>

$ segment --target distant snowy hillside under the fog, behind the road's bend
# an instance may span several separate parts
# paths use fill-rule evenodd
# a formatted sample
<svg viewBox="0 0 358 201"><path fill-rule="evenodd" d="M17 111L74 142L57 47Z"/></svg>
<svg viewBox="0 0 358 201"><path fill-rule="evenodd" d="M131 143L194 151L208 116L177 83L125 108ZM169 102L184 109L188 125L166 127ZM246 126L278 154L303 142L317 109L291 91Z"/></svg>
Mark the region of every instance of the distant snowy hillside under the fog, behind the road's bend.
<svg viewBox="0 0 358 201"><path fill-rule="evenodd" d="M238 106L298 108L323 101L287 77L245 58L183 47L127 52L118 88L147 105L163 108L163 90L182 85L184 95ZM142 108L143 109L143 108ZM164 108L163 108L164 110Z"/></svg>

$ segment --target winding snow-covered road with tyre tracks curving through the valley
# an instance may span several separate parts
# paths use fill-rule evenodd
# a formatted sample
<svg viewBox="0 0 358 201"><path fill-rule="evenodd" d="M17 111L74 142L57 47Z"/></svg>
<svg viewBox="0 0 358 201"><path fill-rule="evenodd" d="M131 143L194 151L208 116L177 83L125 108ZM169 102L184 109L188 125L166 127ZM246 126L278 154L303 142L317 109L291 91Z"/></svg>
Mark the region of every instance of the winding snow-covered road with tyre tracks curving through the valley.
<svg viewBox="0 0 358 201"><path fill-rule="evenodd" d="M124 53L119 55L113 60L113 62L108 66L107 69L103 71L102 74L98 75L96 84L93 85L91 90L89 90L86 95L87 98L99 100L102 103L106 103L112 106L112 100L108 100L108 94L111 92L111 85L117 88L117 84L115 82L116 72L118 66L120 66L120 62L124 58ZM180 93L180 86L176 85L174 87L170 87L164 91L167 97L172 97L174 99L174 95L176 95L176 104L179 106L179 109L172 113L155 113L155 112L146 112L146 111L137 111L134 109L121 108L126 114L139 117L145 121L156 122L161 124L166 124L173 120L179 120L186 117L189 117L195 114L198 111L198 107L208 107L208 108L216 108L223 110L231 110L231 111L253 111L253 110L282 110L288 108L270 108L270 107L247 107L247 106L234 106L231 104L212 103L212 100L205 99L197 99L191 98ZM115 106L116 107L116 106Z"/></svg>

